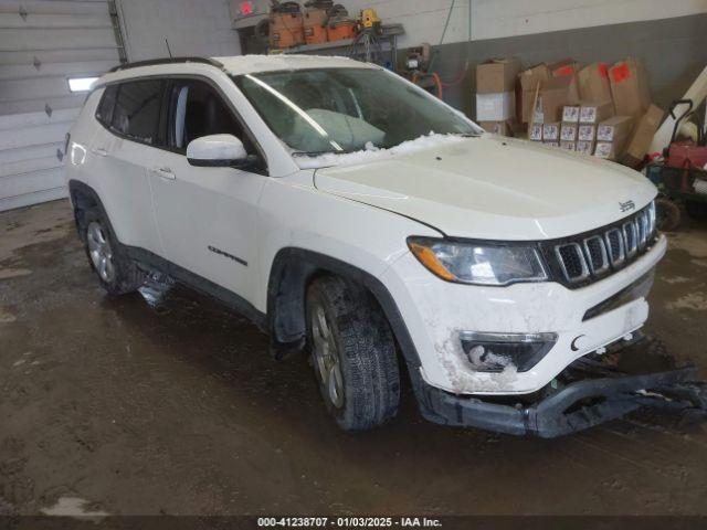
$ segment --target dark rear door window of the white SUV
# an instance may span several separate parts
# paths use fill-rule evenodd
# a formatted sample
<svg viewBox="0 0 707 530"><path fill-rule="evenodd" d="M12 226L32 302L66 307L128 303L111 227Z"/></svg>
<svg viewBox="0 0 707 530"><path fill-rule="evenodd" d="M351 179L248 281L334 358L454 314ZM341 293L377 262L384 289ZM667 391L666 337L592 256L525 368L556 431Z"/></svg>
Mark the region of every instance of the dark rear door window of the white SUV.
<svg viewBox="0 0 707 530"><path fill-rule="evenodd" d="M156 145L163 85L160 80L122 83L110 127L133 140Z"/></svg>

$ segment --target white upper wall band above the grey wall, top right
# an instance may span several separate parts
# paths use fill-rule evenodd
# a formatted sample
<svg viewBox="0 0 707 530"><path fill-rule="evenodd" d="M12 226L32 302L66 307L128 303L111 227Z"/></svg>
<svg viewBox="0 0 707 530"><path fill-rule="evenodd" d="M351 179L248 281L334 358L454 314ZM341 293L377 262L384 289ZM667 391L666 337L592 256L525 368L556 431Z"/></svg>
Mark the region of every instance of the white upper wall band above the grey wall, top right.
<svg viewBox="0 0 707 530"><path fill-rule="evenodd" d="M707 0L456 0L444 43L707 13ZM342 0L351 14L372 7L405 28L401 47L439 44L452 0Z"/></svg>

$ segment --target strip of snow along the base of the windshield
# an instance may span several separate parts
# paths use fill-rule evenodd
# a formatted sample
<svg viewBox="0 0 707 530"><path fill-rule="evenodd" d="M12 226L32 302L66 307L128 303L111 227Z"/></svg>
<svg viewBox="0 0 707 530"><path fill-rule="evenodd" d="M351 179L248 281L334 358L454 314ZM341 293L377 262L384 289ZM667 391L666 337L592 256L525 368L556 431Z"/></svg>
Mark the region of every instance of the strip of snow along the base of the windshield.
<svg viewBox="0 0 707 530"><path fill-rule="evenodd" d="M403 141L390 149L380 149L374 147L371 142L366 145L366 149L354 152L344 152L337 155L336 152L327 152L325 155L318 155L316 157L294 157L295 162L299 166L299 169L318 169L329 168L331 166L345 167L356 166L360 163L378 162L387 160L395 155L412 155L431 147L442 147L464 141L466 138L458 135L435 135L421 136L414 140Z"/></svg>

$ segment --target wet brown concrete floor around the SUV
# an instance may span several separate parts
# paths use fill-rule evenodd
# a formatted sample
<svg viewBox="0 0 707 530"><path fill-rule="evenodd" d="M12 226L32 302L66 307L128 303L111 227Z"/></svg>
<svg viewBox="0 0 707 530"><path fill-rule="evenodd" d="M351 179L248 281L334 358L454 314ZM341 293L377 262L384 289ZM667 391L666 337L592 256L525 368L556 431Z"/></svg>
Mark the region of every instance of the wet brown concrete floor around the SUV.
<svg viewBox="0 0 707 530"><path fill-rule="evenodd" d="M652 308L707 375L707 226L671 236ZM408 391L351 435L266 346L186 289L107 298L65 201L0 214L0 513L707 513L704 426L519 439L426 423Z"/></svg>

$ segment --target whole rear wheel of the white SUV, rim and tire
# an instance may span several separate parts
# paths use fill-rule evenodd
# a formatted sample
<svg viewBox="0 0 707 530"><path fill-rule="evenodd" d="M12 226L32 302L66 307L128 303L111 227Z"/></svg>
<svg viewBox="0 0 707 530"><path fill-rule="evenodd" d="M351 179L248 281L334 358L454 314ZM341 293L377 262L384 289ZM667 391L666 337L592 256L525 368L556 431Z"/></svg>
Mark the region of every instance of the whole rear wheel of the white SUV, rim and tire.
<svg viewBox="0 0 707 530"><path fill-rule="evenodd" d="M125 255L102 212L88 210L83 220L86 255L103 288L110 295L137 290L145 283L145 274Z"/></svg>

